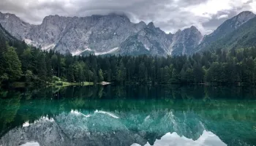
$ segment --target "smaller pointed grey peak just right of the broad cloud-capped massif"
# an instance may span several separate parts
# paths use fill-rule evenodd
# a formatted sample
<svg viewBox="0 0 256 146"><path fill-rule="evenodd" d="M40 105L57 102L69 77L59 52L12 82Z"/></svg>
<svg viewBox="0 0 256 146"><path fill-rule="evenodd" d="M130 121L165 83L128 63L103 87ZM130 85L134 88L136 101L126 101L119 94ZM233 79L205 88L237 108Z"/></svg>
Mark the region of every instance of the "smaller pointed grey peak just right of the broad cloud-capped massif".
<svg viewBox="0 0 256 146"><path fill-rule="evenodd" d="M154 23L148 23L138 34L129 37L121 43L121 55L170 55L171 36L165 34ZM132 50L132 54L128 53Z"/></svg>

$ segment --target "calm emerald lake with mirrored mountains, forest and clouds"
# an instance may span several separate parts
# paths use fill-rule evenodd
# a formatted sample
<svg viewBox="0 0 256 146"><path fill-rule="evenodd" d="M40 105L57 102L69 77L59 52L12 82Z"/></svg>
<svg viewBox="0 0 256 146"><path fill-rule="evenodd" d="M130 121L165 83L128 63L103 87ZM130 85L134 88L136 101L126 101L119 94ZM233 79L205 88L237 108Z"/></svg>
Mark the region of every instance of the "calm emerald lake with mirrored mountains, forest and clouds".
<svg viewBox="0 0 256 146"><path fill-rule="evenodd" d="M256 145L256 90L114 86L0 90L0 145Z"/></svg>

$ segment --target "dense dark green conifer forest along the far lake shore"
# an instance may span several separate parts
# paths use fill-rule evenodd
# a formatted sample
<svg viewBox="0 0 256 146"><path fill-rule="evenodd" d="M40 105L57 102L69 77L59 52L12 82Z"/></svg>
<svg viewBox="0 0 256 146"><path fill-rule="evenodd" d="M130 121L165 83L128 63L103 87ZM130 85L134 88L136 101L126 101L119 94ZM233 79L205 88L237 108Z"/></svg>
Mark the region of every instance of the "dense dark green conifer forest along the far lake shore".
<svg viewBox="0 0 256 146"><path fill-rule="evenodd" d="M254 85L256 47L191 56L72 56L0 38L1 82L214 83ZM59 79L58 78L58 79Z"/></svg>

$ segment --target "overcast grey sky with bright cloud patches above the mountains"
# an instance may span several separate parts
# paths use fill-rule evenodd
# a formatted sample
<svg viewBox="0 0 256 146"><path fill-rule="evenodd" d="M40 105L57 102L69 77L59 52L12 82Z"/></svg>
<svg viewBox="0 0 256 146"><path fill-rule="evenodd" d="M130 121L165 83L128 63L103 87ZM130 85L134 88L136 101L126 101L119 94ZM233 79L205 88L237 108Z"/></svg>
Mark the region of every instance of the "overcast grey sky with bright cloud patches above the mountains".
<svg viewBox="0 0 256 146"><path fill-rule="evenodd" d="M140 20L166 33L196 26L209 34L228 18L249 10L256 13L256 0L1 0L0 11L40 24L47 15L89 16L125 13L134 23Z"/></svg>

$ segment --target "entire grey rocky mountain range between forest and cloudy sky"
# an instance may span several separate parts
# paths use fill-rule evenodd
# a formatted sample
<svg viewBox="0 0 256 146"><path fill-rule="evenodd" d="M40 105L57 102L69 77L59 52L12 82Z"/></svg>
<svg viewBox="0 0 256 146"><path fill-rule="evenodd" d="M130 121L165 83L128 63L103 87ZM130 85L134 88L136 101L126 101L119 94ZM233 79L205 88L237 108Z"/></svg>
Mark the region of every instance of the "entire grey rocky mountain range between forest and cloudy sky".
<svg viewBox="0 0 256 146"><path fill-rule="evenodd" d="M0 24L5 34L29 45L72 55L191 55L256 44L256 18L249 11L226 20L204 37L195 26L166 34L152 22L132 23L126 15L116 14L84 18L50 15L42 24L31 25L16 15L0 12Z"/></svg>

